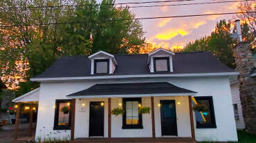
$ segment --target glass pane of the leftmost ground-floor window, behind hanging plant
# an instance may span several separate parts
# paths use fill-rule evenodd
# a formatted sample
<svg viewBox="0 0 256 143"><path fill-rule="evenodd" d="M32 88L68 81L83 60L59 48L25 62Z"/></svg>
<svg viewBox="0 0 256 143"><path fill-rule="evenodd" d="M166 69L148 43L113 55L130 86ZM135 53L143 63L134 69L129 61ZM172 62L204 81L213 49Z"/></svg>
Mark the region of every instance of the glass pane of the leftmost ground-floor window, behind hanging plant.
<svg viewBox="0 0 256 143"><path fill-rule="evenodd" d="M69 122L70 103L69 102L60 102L59 106L60 107L59 107L58 125L66 126L66 125L68 125L68 122ZM66 110L64 110L64 109L66 109Z"/></svg>

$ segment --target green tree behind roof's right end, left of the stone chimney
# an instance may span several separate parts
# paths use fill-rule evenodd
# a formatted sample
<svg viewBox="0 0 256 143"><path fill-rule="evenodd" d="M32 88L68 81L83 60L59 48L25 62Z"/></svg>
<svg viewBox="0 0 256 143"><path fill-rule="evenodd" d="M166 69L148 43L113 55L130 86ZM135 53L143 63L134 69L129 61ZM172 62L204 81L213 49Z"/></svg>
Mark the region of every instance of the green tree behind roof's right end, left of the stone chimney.
<svg viewBox="0 0 256 143"><path fill-rule="evenodd" d="M217 23L214 32L194 42L190 42L183 48L183 52L208 51L212 52L222 63L235 68L235 60L232 54L235 39L231 38L232 29L230 21L221 20Z"/></svg>

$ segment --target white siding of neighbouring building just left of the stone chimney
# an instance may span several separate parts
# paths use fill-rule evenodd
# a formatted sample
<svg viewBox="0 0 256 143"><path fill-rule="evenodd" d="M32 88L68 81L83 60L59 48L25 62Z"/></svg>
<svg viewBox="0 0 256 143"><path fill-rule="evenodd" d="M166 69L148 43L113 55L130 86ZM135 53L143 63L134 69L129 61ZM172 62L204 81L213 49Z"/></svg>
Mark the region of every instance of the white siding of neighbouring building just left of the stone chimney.
<svg viewBox="0 0 256 143"><path fill-rule="evenodd" d="M241 110L241 101L239 96L239 83L234 83L230 85L231 94L232 94L232 102L233 104L237 104L238 114L239 114L239 120L235 120L235 123L237 124L237 129L244 129L244 117Z"/></svg>

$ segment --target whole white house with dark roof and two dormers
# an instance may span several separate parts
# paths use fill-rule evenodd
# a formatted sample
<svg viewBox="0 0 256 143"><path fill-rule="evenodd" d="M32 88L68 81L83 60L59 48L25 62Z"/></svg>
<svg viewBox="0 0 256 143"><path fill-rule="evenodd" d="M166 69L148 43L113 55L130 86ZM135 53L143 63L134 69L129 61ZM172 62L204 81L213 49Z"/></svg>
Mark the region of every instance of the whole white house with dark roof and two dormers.
<svg viewBox="0 0 256 143"><path fill-rule="evenodd" d="M229 81L237 74L210 52L63 56L30 79L40 83L35 139L237 141ZM111 115L116 108L124 115Z"/></svg>

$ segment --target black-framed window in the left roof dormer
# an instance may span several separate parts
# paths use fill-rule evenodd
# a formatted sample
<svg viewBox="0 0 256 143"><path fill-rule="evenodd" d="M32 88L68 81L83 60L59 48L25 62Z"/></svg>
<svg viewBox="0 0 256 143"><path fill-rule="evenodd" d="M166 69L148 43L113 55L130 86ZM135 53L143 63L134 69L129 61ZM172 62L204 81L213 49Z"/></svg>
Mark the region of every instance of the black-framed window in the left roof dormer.
<svg viewBox="0 0 256 143"><path fill-rule="evenodd" d="M109 73L109 59L95 59L94 64L94 74Z"/></svg>

